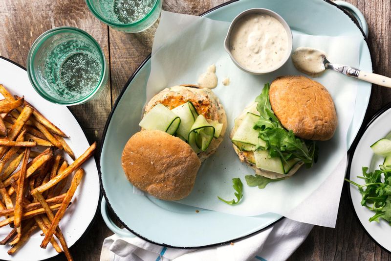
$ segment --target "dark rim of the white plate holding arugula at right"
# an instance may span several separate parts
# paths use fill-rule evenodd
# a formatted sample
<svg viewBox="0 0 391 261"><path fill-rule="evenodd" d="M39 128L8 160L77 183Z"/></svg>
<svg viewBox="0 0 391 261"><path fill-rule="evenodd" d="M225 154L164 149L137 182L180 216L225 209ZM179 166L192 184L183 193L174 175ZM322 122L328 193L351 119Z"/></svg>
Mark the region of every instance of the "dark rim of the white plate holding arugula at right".
<svg viewBox="0 0 391 261"><path fill-rule="evenodd" d="M387 112L388 110L391 109L391 102L388 103L386 106L384 106L383 108L381 108L379 111L377 111L375 113L375 115L370 119L369 123L365 126L365 128L362 128L362 130L360 130L360 132L357 134L357 137L355 139L355 142L351 145L350 149L349 149L349 152L348 152L348 167L347 167L347 170L346 170L346 178L349 179L350 178L350 168L351 168L351 163L353 161L353 156L354 156L354 153L356 151L356 148L357 148L357 144L358 142L361 140L361 138L363 137L364 133L367 131L367 129L369 128L369 126L373 123L373 121L377 118L379 118L383 113ZM349 195L349 203L350 203L350 207L351 209L353 210L353 213L358 221L358 223L360 224L361 228L365 231L365 233L368 235L369 238L371 238L378 246L380 246L381 249L383 249L384 251L388 252L389 254L391 254L391 251L386 249L384 246L382 246L379 242L377 242L370 234L369 232L365 229L363 223L361 223L360 219L358 218L358 215L357 215L357 212L354 210L354 207L353 207L353 200L351 198L351 191L350 191L350 186L347 182L344 181L344 185L345 186L348 186L348 195ZM368 221L369 222L369 221Z"/></svg>

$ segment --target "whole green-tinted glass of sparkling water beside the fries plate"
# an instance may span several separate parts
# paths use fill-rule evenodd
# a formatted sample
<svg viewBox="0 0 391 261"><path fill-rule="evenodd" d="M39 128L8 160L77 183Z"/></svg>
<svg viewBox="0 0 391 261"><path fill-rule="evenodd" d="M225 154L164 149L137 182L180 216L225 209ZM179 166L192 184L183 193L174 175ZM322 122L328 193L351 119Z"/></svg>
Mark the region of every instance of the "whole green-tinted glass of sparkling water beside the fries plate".
<svg viewBox="0 0 391 261"><path fill-rule="evenodd" d="M90 100L109 75L99 44L75 27L53 28L38 37L27 56L27 74L38 94L61 105Z"/></svg>

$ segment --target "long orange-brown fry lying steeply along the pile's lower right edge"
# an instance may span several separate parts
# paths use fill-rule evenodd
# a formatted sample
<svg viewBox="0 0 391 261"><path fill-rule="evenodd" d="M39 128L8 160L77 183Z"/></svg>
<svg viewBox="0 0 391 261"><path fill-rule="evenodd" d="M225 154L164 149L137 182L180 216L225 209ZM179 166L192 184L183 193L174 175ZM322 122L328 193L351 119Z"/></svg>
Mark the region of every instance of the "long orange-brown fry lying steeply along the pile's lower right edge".
<svg viewBox="0 0 391 261"><path fill-rule="evenodd" d="M57 211L56 215L54 216L54 219L52 220L52 224L45 233L45 237L43 238L41 247L46 248L47 244L50 242L50 239L53 237L54 231L56 230L58 224L60 223L61 218L63 218L65 211L72 200L73 194L75 193L77 187L79 186L80 182L82 181L84 175L83 168L79 168L75 175L73 176L72 183L69 187L69 190L66 192L66 196L64 198L63 203L61 203L61 208Z"/></svg>

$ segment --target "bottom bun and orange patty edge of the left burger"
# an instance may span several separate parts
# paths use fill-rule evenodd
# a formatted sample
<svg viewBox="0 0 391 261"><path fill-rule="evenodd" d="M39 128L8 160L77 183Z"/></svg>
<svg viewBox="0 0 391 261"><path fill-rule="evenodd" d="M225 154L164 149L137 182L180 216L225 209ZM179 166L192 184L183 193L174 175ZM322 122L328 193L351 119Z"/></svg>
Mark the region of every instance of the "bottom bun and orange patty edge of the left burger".
<svg viewBox="0 0 391 261"><path fill-rule="evenodd" d="M186 86L178 85L166 88L152 97L145 106L145 113L148 113L159 103L162 103L171 110L188 101L193 103L197 113L202 114L205 119L218 120L218 122L223 124L220 136L217 139L215 138L212 140L206 151L198 153L199 159L204 161L216 152L218 145L223 141L224 133L227 128L227 116L223 105L210 89L199 88L196 85L189 84Z"/></svg>

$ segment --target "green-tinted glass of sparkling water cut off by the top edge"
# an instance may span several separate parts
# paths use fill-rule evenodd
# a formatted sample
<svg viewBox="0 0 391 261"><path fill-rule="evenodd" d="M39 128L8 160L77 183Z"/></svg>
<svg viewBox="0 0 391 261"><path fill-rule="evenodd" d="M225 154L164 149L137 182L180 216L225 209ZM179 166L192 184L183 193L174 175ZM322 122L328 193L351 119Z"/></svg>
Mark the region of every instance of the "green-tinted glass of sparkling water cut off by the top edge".
<svg viewBox="0 0 391 261"><path fill-rule="evenodd" d="M92 14L118 31L137 33L155 23L162 0L86 0Z"/></svg>

